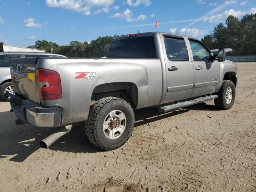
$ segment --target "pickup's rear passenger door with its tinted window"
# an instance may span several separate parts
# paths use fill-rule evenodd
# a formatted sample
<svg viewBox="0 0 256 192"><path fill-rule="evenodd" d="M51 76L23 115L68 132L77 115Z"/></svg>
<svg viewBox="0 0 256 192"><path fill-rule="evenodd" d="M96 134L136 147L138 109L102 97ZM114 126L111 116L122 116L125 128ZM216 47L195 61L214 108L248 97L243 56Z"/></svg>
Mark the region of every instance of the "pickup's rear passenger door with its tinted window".
<svg viewBox="0 0 256 192"><path fill-rule="evenodd" d="M194 88L194 66L183 37L161 37L166 66L166 96L164 103L190 98Z"/></svg>

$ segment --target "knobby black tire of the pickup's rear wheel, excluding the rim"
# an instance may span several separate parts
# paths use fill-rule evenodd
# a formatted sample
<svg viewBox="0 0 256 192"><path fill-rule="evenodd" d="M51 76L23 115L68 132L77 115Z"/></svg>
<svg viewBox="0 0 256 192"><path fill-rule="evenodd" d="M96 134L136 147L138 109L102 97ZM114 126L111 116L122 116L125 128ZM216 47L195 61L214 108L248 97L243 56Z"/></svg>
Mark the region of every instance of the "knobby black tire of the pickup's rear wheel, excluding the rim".
<svg viewBox="0 0 256 192"><path fill-rule="evenodd" d="M103 122L112 110L121 110L127 119L124 132L114 140L107 138L103 131ZM126 100L116 97L105 97L90 106L88 120L85 122L86 136L98 148L114 150L125 144L130 138L134 128L134 121L134 111Z"/></svg>

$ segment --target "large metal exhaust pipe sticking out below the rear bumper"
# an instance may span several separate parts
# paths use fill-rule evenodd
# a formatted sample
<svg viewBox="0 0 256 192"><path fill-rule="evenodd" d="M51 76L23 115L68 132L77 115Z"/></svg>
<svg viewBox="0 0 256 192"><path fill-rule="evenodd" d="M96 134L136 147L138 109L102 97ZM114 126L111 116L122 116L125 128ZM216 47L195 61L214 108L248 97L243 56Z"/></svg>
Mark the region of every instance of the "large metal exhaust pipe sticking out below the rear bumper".
<svg viewBox="0 0 256 192"><path fill-rule="evenodd" d="M46 149L50 147L56 140L58 140L59 138L61 138L62 136L70 132L71 128L72 128L72 125L57 128L58 130L56 133L53 133L50 136L43 139L42 141L40 141L41 148Z"/></svg>

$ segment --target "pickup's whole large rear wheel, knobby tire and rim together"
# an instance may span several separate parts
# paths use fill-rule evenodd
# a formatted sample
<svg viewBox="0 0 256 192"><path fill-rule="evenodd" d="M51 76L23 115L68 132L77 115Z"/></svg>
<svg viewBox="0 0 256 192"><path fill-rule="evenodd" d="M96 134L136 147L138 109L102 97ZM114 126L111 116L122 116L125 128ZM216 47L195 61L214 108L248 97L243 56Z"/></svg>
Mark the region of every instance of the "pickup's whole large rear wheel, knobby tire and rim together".
<svg viewBox="0 0 256 192"><path fill-rule="evenodd" d="M134 121L133 109L126 100L106 97L90 107L85 131L90 142L98 148L113 150L130 138Z"/></svg>

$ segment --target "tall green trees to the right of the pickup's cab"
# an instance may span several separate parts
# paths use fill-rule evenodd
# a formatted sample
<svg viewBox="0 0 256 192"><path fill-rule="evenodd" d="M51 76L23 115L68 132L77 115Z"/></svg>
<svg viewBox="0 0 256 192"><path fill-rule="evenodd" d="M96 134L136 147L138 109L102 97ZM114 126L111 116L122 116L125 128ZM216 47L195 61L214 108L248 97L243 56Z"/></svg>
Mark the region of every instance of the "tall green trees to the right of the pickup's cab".
<svg viewBox="0 0 256 192"><path fill-rule="evenodd" d="M256 55L256 14L247 14L240 20L228 16L226 25L219 23L201 40L210 49L232 48L232 56Z"/></svg>

